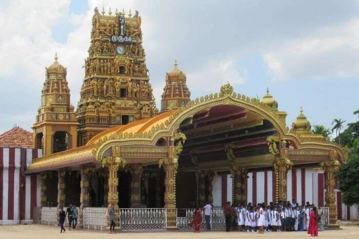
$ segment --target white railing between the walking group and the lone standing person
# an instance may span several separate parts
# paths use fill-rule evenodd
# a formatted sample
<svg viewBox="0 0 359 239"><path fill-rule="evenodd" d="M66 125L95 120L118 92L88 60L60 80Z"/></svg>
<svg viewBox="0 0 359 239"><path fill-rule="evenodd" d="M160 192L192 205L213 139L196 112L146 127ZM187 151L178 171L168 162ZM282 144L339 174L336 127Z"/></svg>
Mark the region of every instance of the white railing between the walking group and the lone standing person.
<svg viewBox="0 0 359 239"><path fill-rule="evenodd" d="M107 227L107 208L85 207L82 218L85 229L103 230Z"/></svg>

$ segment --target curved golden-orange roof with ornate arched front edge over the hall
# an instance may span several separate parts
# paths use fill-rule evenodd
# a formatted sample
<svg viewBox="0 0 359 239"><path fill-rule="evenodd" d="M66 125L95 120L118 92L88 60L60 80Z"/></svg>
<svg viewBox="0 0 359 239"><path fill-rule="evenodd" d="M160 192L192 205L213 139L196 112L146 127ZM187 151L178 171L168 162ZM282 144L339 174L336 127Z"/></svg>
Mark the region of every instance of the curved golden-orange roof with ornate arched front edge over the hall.
<svg viewBox="0 0 359 239"><path fill-rule="evenodd" d="M224 105L227 105L227 107L222 107ZM192 118L195 121L198 116L206 115L206 112L210 114L211 109L216 109L216 111L221 113L221 109L226 108L227 113L230 113L228 110L232 106L239 106L242 110L255 114L255 117L269 121L275 128L276 136L283 141L291 142L294 146L294 148L287 148L286 152L290 155L289 158L310 156L315 162L337 158L340 162L345 163L346 154L340 146L327 141L320 135L311 134L310 132L303 134L301 132L290 132L285 124L285 118L282 117L282 112L278 112L276 108L255 98L249 98L233 92L232 86L228 83L222 86L220 93L197 98L177 110L171 110L152 118L109 128L94 136L85 146L35 159L29 165L26 173L102 161L104 157L107 157L105 152L113 145L123 145L124 150L130 151L131 149L128 148L131 147L142 147L142 149L149 151L151 151L152 147L157 147L158 149L156 145L157 140L161 137L174 137L181 123L186 122L187 119ZM167 146L159 147L161 147L159 151L156 151L158 155L153 156L150 159L151 162L156 162L156 160L166 157L164 154L168 153ZM123 157L131 156L127 154L127 156ZM143 156L143 159L149 160L147 155ZM136 160L133 159L131 162L137 162Z"/></svg>

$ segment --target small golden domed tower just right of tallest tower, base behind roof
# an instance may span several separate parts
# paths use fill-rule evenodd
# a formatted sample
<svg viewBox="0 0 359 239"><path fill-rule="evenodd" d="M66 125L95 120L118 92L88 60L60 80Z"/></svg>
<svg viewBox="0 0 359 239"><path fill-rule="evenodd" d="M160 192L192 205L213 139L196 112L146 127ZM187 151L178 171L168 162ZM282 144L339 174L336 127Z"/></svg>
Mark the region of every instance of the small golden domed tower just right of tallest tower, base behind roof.
<svg viewBox="0 0 359 239"><path fill-rule="evenodd" d="M186 75L178 69L174 61L174 69L166 73L166 85L161 100L161 113L176 109L190 101L191 93L186 85Z"/></svg>

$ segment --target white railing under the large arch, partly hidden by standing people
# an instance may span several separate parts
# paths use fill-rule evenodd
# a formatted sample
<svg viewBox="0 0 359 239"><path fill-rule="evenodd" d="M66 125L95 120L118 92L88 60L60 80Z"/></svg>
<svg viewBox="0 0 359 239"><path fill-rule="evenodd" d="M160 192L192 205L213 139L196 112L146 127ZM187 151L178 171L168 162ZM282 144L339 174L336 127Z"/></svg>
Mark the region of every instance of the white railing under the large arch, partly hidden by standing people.
<svg viewBox="0 0 359 239"><path fill-rule="evenodd" d="M194 212L196 209L177 209L177 228L179 230L191 230L192 228L188 225L194 218ZM222 208L213 208L211 212L211 228L212 229L225 229L226 228L226 216ZM202 223L201 229L206 228L205 213L202 210Z"/></svg>

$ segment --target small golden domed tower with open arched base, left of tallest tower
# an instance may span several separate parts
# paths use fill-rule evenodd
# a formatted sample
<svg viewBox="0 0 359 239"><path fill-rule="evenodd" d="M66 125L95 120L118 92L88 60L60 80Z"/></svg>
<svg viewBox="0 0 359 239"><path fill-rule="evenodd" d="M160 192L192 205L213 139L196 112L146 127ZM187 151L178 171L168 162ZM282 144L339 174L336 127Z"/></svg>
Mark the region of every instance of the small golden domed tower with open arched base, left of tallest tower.
<svg viewBox="0 0 359 239"><path fill-rule="evenodd" d="M33 124L33 147L43 148L44 156L77 146L77 121L70 105L66 68L57 61L46 68L41 106Z"/></svg>

